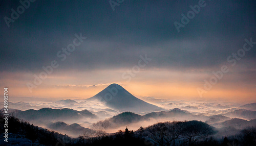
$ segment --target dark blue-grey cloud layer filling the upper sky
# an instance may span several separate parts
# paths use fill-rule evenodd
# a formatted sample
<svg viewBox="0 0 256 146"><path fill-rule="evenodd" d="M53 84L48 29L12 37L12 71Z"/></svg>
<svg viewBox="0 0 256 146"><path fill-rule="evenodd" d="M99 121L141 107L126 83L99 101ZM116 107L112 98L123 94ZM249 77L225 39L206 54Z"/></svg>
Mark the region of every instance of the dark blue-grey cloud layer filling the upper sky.
<svg viewBox="0 0 256 146"><path fill-rule="evenodd" d="M9 28L4 17L20 3L1 1L1 70L34 71L52 60L63 70L131 67L144 54L148 67L204 68L226 62L244 38L256 41L255 1L205 3L178 33L174 22L198 1L124 1L115 11L109 1L35 1ZM87 40L61 62L57 52L80 33ZM243 59L255 61L255 50Z"/></svg>

